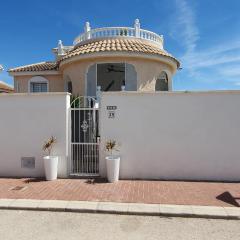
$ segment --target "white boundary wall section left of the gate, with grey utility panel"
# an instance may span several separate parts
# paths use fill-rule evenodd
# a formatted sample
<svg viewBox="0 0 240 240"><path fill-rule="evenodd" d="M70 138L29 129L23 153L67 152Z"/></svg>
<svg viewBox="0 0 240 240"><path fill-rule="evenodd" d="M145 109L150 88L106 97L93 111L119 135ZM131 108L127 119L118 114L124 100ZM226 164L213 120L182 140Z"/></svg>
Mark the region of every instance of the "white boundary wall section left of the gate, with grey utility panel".
<svg viewBox="0 0 240 240"><path fill-rule="evenodd" d="M0 94L0 176L44 176L42 145L57 138L58 176L67 177L67 93ZM21 167L21 157L35 157L35 169Z"/></svg>

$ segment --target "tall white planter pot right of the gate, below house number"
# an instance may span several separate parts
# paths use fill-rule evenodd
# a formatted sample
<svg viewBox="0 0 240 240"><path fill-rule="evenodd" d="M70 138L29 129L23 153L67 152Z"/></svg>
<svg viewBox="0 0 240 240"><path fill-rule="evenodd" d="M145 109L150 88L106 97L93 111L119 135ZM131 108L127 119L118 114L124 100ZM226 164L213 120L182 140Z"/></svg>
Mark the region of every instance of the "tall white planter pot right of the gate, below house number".
<svg viewBox="0 0 240 240"><path fill-rule="evenodd" d="M108 181L111 183L117 182L119 180L120 157L108 156L106 157L106 163Z"/></svg>

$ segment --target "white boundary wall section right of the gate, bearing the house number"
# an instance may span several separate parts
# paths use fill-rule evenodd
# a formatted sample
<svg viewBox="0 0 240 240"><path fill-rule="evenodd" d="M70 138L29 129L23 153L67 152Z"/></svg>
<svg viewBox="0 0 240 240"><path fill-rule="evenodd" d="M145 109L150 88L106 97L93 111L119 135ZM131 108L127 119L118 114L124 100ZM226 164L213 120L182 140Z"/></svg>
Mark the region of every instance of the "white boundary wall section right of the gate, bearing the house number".
<svg viewBox="0 0 240 240"><path fill-rule="evenodd" d="M108 139L121 145L121 178L240 180L240 91L103 93L102 176Z"/></svg>

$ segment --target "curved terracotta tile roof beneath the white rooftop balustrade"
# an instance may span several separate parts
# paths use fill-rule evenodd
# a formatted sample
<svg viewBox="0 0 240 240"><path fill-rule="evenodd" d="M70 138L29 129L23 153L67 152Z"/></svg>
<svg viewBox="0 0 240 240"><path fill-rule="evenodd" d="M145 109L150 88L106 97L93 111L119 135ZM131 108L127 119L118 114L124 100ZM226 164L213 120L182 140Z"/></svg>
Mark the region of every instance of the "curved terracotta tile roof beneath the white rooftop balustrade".
<svg viewBox="0 0 240 240"><path fill-rule="evenodd" d="M158 48L157 46L147 43L141 39L121 39L121 38L111 38L103 40L95 40L94 42L88 42L86 44L80 45L64 56L60 61L65 59L96 52L135 52L135 53L146 53L146 54L157 54L166 57L170 57L177 62L178 67L180 66L179 61L174 58L171 54Z"/></svg>

